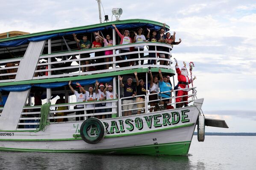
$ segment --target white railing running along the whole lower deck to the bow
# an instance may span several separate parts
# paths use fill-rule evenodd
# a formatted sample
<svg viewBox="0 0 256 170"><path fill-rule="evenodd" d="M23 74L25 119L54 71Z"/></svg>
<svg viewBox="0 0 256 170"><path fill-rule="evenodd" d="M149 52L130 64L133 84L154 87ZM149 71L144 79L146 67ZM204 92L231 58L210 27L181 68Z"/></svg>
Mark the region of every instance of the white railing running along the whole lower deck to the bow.
<svg viewBox="0 0 256 170"><path fill-rule="evenodd" d="M190 87L190 88L186 88L186 89L177 89L173 91L173 96L171 96L170 98L165 98L165 99L169 99L171 100L171 103L168 105L171 105L174 107L174 109L176 108L177 104L179 103L191 103L194 101L195 96L196 96L196 87ZM188 95L182 95L182 96L176 96L177 91L179 90L189 90L192 91L191 94ZM166 91L166 92L171 92L170 91ZM146 95L135 95L135 96L131 96L131 97L124 97L124 98L120 98L119 102L118 99L112 99L112 100L104 100L104 101L90 101L90 102L78 102L78 103L68 103L68 104L52 104L50 105L50 113L48 115L48 119L50 120L51 123L54 122L66 122L66 121L75 121L74 119L77 117L84 117L84 119L87 119L89 116L98 116L98 115L116 115L117 114L117 102L118 102L118 106L119 106L119 117L123 116L123 112L126 111L134 111L134 110L138 110L138 109L143 109L144 113L149 112L149 109L155 106L150 106L150 102L153 101L149 101L149 96L150 95L161 95L162 93L166 93L166 92L157 92L157 93L153 93L153 94L146 94ZM178 97L185 97L188 96L188 101L180 101L180 102L176 102L176 98ZM129 104L122 104L122 101L124 101L125 99L131 99L133 100L134 98L137 97L144 97L145 101L142 102L133 102L132 105L136 106L137 104L141 104L144 103L144 107L141 108L136 108L133 107L132 109L127 109L124 110L123 106L125 105L129 105ZM190 99L191 98L191 99ZM174 100L172 100L174 99ZM161 98L158 98L156 101L156 103L159 104L160 107L162 107L162 105L160 104L159 101L161 101ZM103 106L103 107L95 107L96 104L100 104L100 103L112 103L112 106ZM90 107L87 108L86 105L88 104L94 104L94 107ZM75 107L77 105L84 105L84 108L81 109L73 109L71 107ZM66 107L66 109L63 110L56 110L57 107ZM0 108L0 110L3 108ZM23 107L23 112L21 113L21 118L20 118L20 123L18 123L18 129L17 130L36 130L36 128L38 127L39 121L40 121L40 114L41 112L39 110L35 111L35 109L41 109L41 106L26 106ZM94 113L90 113L87 114L86 111L87 110L94 110ZM96 110L98 109L112 109L111 112L97 112ZM83 114L80 115L76 115L77 111L83 111ZM159 110L158 110L159 111ZM58 115L58 113L64 113L63 115ZM65 120L66 119L66 120ZM57 120L57 121L56 121ZM60 121L59 121L60 120ZM31 127L32 126L32 127Z"/></svg>

